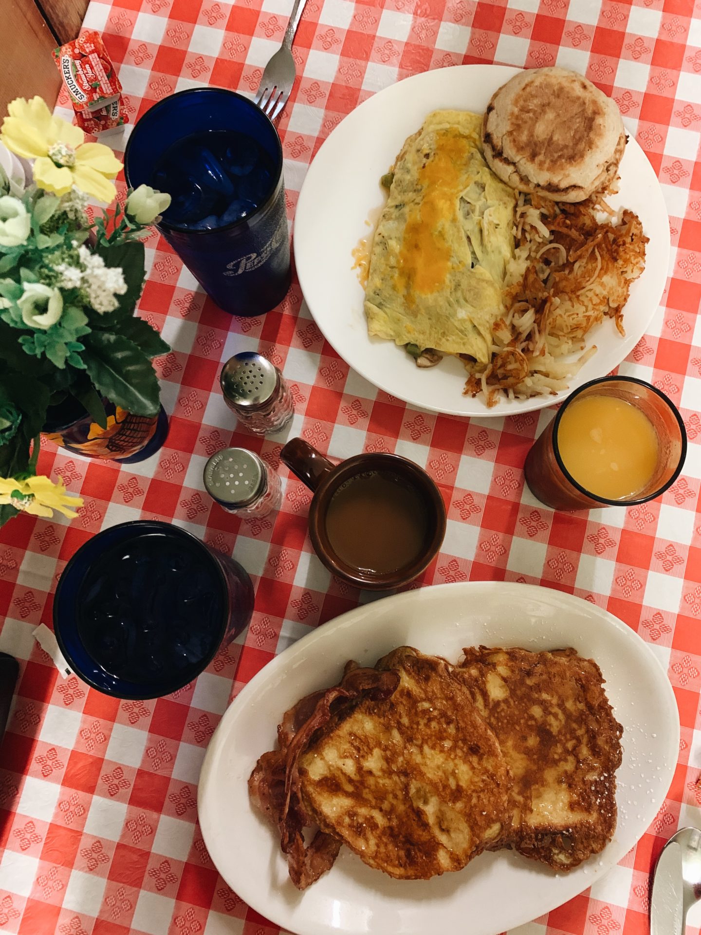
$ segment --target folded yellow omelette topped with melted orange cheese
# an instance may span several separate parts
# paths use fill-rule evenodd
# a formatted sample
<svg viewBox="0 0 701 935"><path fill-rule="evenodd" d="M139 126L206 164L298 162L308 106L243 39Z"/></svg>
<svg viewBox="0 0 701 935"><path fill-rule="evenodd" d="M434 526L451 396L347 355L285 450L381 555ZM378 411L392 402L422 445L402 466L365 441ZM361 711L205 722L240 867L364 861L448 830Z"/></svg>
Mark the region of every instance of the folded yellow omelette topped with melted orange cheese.
<svg viewBox="0 0 701 935"><path fill-rule="evenodd" d="M436 110L408 137L373 241L365 315L370 335L487 363L517 194L485 163L481 122Z"/></svg>

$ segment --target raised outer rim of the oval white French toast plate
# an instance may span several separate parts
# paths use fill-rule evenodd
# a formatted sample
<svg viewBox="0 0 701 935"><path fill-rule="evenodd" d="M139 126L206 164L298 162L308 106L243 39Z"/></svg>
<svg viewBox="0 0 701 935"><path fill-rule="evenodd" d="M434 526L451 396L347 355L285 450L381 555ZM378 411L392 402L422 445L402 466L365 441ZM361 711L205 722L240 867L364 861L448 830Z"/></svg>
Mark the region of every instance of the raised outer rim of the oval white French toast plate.
<svg viewBox="0 0 701 935"><path fill-rule="evenodd" d="M637 837L635 841L628 842L622 853L620 853L615 860L609 859L607 861L606 855L608 849L613 847L613 843L609 844L608 848L603 852L603 854L598 856L599 858L596 865L594 866L593 877L591 879L588 879L585 883L576 886L571 891L567 890L565 896L562 896L562 893L558 893L558 898L554 902L549 902L546 900L546 903L544 903L540 907L539 911L536 912L532 917L536 918L541 914L551 911L558 905L561 905L567 899L572 899L580 892L582 892L583 889L594 884L597 875L602 875L604 872L607 872L618 860L622 859L622 856L624 856L624 854L635 845L640 837L642 837L642 835L647 830L647 827L650 826L654 815L663 804L666 793L670 784L672 783L674 772L677 767L680 743L680 717L674 690L667 678L665 669L652 651L651 647L641 639L635 630L624 624L618 617L614 616L609 611L606 611L605 609L599 607L598 605L592 604L589 601L583 600L580 597L570 595L567 592L542 587L536 584L511 582L464 582L436 584L421 588L419 590L393 595L392 597L380 598L378 601L373 601L369 604L362 604L350 611L347 611L346 613L341 614L334 620L318 627L307 636L297 640L282 653L275 656L269 663L264 666L263 669L258 671L250 680L250 682L244 685L232 704L229 706L226 712L224 712L222 721L217 726L211 740L209 741L207 746L207 753L202 764L197 791L197 810L203 838L207 845L207 850L209 851L209 854L215 863L215 866L217 866L218 870L222 874L222 877L224 880L226 880L228 885L230 885L232 889L235 890L237 895L240 896L241 899L244 899L252 909L262 914L263 916L270 918L270 920L279 925L280 928L286 928L290 931L297 932L298 935L330 935L331 932L336 930L339 932L343 932L345 930L343 928L334 928L324 925L306 925L303 928L293 928L293 924L291 925L291 920L289 918L276 917L276 913L270 913L271 907L267 903L258 899L255 892L251 893L237 888L240 886L240 883L230 875L227 875L228 868L222 869L222 865L217 862L217 856L220 856L221 853L221 849L217 841L220 830L218 826L215 789L217 763L225 750L226 743L229 740L228 734L235 729L236 720L239 715L246 711L247 706L255 700L261 689L262 694L265 697L266 683L274 687L276 683L276 677L279 677L285 671L285 669L288 667L294 667L295 664L304 664L304 660L306 659L313 660L313 649L317 643L332 641L337 630L343 627L353 626L363 618L371 620L374 609L379 605L383 605L384 611L387 611L389 607L392 607L394 611L401 611L401 608L404 604L407 604L410 601L415 601L417 597L419 597L422 601L428 601L430 604L435 598L439 600L441 595L450 593L452 596L455 596L455 592L459 590L460 596L464 597L465 601L467 601L468 597L471 598L479 596L480 592L488 594L490 591L496 588L499 589L501 595L510 592L514 598L518 598L521 604L524 604L528 598L531 598L535 599L536 601L542 601L545 605L551 605L551 607L556 609L558 605L564 605L565 607L570 606L579 609L580 612L586 612L586 614L593 619L597 618L600 624L612 626L616 631L618 631L620 635L622 635L624 641L627 640L630 645L635 645L637 647L637 652L642 653L643 656L648 660L648 663L651 667L651 672L656 673L658 684L662 688L665 697L666 711L663 712L664 719L667 721L666 726L671 728L668 736L666 737L665 756L663 758L661 775L659 779L661 782L660 788L663 788L665 791L662 793L661 800L653 800L647 807L640 806L644 811L644 814L642 815L643 821L638 826L639 834L636 831ZM436 624L429 623L428 626L436 626ZM498 638L494 639L493 644L499 645ZM339 659L339 665L342 665L346 658L347 656L344 655L342 660ZM321 687L321 685L315 687ZM314 690L314 688L310 687L309 691L312 690ZM280 712L280 714L281 713L282 712ZM623 728L625 731L625 725L623 725ZM215 800L211 802L209 800L210 789L213 790L211 795L215 797ZM638 815L638 819L640 817L641 816ZM271 836L274 836L275 834L275 831L272 827L265 827L265 832L269 833ZM592 861L590 861L590 863L592 863ZM602 867L604 867L603 871L601 870ZM451 874L448 874L448 876L451 876ZM565 876L565 882L569 882L572 879L572 877ZM563 889L566 890L566 886L564 886ZM496 935L498 932L506 930L506 928L513 928L515 926L525 924L526 922L530 921L530 918L531 917L529 916L529 918L517 917L512 919L509 921L508 927L500 925L499 927L494 928L494 935Z"/></svg>

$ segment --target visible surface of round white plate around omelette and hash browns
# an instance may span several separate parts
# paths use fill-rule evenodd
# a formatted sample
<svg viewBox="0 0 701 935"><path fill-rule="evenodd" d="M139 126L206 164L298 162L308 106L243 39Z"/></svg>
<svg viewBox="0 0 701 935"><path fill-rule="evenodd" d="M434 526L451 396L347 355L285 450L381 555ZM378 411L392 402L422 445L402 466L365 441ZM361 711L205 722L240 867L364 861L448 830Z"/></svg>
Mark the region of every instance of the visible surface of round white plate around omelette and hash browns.
<svg viewBox="0 0 701 935"><path fill-rule="evenodd" d="M642 338L665 289L669 221L659 182L632 134L621 163L621 191L610 198L634 210L650 243L642 276L625 307L626 337L607 319L587 336L598 351L557 396L502 399L488 409L479 396L463 396L465 367L445 357L428 370L416 367L392 341L370 338L363 310L364 290L353 269L352 252L379 217L386 194L379 184L405 139L432 110L481 113L494 91L520 69L504 65L454 65L399 81L368 98L339 123L309 166L294 215L294 262L302 293L324 338L350 367L380 390L413 406L465 416L505 416L543 409L577 386L605 377Z"/></svg>

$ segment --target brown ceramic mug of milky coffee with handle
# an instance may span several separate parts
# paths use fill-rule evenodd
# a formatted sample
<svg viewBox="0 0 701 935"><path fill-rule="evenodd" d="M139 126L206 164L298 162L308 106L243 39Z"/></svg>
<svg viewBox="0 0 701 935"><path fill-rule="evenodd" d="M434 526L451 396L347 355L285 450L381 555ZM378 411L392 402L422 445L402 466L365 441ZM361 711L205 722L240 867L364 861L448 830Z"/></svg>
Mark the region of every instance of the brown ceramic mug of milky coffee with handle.
<svg viewBox="0 0 701 935"><path fill-rule="evenodd" d="M371 591L410 582L446 533L446 508L423 468L399 454L356 454L334 465L303 439L280 459L307 484L309 536L329 571Z"/></svg>

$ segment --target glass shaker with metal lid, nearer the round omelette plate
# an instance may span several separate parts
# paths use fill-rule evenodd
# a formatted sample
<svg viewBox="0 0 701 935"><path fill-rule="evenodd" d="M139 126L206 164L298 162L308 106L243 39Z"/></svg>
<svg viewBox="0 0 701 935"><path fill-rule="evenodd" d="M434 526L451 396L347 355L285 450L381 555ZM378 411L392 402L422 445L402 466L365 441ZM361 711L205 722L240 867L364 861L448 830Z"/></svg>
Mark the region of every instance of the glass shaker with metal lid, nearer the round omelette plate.
<svg viewBox="0 0 701 935"><path fill-rule="evenodd" d="M259 353L231 357L220 377L226 405L251 432L279 432L293 417L293 398L278 367Z"/></svg>

